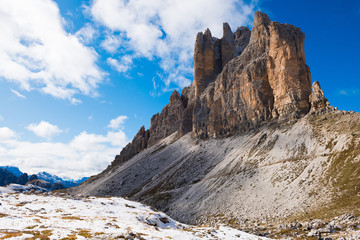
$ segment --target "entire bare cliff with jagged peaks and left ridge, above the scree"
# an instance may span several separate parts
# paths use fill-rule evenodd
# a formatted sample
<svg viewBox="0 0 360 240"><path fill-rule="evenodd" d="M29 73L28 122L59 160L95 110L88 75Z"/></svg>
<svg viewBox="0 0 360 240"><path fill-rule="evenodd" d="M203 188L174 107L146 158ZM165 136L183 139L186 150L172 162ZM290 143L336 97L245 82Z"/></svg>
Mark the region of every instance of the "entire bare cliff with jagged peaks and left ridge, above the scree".
<svg viewBox="0 0 360 240"><path fill-rule="evenodd" d="M161 139L191 132L216 138L248 132L268 121L299 118L310 110L311 77L304 53L304 34L295 26L270 21L256 12L253 28L223 37L210 30L198 33L194 50L194 80L181 95L174 91L151 127L140 129L116 156L113 165L130 159ZM316 95L317 96L317 95ZM315 108L321 108L316 100Z"/></svg>

